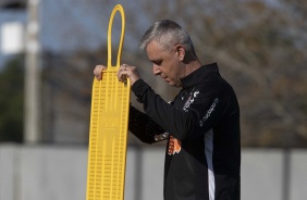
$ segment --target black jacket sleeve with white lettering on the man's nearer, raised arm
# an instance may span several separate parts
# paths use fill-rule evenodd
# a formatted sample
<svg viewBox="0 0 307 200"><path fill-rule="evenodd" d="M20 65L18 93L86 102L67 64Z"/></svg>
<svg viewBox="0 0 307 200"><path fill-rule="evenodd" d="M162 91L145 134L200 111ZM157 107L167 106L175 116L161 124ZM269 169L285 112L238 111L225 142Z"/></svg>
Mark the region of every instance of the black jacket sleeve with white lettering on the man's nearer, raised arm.
<svg viewBox="0 0 307 200"><path fill-rule="evenodd" d="M143 79L134 83L132 90L143 103L145 113L165 132L179 140L198 137L212 128L222 117L224 103L221 102L220 89L208 85L196 92L185 108L167 103ZM206 91L206 92L204 92Z"/></svg>

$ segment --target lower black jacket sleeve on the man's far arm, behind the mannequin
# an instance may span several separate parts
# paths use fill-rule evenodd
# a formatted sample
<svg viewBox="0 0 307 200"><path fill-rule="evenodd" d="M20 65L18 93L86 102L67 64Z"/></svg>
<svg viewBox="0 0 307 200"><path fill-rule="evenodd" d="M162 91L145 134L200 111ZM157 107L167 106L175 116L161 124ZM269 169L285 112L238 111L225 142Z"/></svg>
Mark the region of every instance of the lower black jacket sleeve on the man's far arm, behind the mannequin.
<svg viewBox="0 0 307 200"><path fill-rule="evenodd" d="M168 133L132 105L130 107L128 130L145 143L154 143L168 138Z"/></svg>

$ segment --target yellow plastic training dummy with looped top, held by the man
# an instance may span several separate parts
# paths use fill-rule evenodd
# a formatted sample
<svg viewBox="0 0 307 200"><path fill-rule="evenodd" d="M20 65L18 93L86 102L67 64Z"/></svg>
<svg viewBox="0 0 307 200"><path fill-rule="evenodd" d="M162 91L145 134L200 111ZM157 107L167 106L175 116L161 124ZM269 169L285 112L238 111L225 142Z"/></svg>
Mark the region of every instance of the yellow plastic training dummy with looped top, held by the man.
<svg viewBox="0 0 307 200"><path fill-rule="evenodd" d="M111 65L111 28L116 12L122 16L122 33L116 65ZM114 7L108 29L108 65L102 79L94 78L91 93L86 200L123 200L128 129L130 79L118 80L125 16L122 5Z"/></svg>

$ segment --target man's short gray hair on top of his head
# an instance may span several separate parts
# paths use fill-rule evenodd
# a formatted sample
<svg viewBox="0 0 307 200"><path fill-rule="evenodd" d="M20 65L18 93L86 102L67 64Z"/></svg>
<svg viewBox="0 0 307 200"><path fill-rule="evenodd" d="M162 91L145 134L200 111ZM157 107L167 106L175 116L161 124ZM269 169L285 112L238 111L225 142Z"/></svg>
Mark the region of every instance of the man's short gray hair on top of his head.
<svg viewBox="0 0 307 200"><path fill-rule="evenodd" d="M195 54L188 33L173 21L163 20L150 26L140 39L139 49L145 50L152 40L161 45L164 50L182 45L186 51Z"/></svg>

